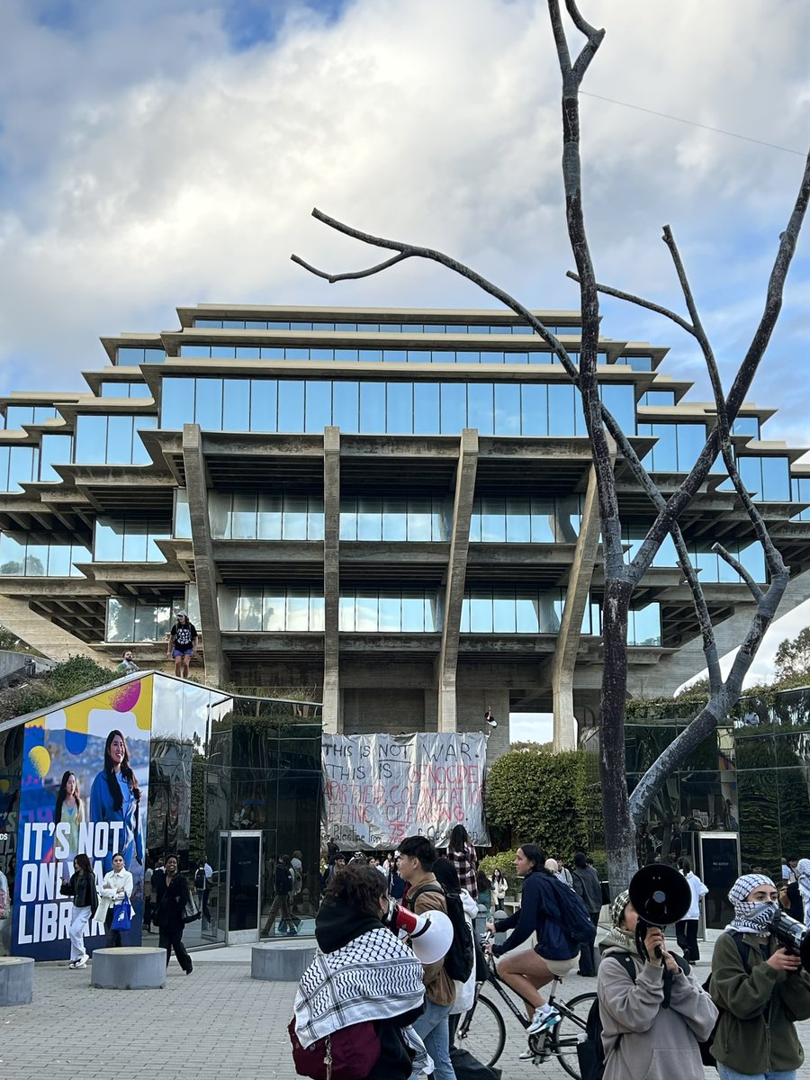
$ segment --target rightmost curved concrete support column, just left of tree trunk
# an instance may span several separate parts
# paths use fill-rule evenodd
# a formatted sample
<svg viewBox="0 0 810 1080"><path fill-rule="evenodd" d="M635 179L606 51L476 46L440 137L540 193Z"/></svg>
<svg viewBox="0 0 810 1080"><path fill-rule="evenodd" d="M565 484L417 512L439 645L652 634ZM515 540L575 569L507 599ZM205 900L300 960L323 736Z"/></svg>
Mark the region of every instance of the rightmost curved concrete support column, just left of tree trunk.
<svg viewBox="0 0 810 1080"><path fill-rule="evenodd" d="M579 537L568 573L563 619L557 634L551 686L554 708L553 750L577 748L577 717L573 715L573 672L582 636L582 619L591 595L591 579L599 546L599 499L596 470L591 467L582 507Z"/></svg>

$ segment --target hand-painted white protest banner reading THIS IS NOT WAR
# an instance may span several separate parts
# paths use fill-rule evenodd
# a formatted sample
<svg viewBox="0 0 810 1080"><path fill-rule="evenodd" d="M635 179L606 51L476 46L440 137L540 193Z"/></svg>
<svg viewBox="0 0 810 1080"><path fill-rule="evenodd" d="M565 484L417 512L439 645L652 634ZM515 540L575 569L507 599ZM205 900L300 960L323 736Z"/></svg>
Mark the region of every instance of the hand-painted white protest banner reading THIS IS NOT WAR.
<svg viewBox="0 0 810 1080"><path fill-rule="evenodd" d="M323 737L324 827L342 848L394 849L406 836L447 846L455 825L487 846L486 737Z"/></svg>

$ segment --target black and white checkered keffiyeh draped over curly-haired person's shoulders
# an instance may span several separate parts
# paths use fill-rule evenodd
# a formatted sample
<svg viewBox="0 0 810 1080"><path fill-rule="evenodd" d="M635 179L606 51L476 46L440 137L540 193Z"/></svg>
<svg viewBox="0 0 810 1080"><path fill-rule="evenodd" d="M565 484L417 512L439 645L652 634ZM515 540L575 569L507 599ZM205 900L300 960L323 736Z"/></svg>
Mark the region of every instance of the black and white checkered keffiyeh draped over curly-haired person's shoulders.
<svg viewBox="0 0 810 1080"><path fill-rule="evenodd" d="M424 999L422 966L386 927L361 934L334 953L315 954L295 996L295 1030L302 1047L352 1024L391 1020ZM403 1038L416 1052L415 1071L433 1069L424 1044L410 1027Z"/></svg>

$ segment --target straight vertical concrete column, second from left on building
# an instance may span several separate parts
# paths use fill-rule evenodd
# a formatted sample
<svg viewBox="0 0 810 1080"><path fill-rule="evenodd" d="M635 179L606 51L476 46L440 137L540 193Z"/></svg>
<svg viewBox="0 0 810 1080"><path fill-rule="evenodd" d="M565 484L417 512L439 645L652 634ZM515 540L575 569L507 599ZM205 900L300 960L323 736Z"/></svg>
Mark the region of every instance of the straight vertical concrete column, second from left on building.
<svg viewBox="0 0 810 1080"><path fill-rule="evenodd" d="M343 729L340 714L340 429L323 431L323 730Z"/></svg>

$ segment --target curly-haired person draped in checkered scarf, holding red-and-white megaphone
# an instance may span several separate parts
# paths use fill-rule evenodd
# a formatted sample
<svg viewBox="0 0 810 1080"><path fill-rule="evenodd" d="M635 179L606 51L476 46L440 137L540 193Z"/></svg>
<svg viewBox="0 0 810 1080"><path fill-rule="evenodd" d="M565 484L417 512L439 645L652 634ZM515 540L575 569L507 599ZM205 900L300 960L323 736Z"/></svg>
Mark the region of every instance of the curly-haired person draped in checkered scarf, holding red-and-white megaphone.
<svg viewBox="0 0 810 1080"><path fill-rule="evenodd" d="M422 966L383 926L389 897L384 877L352 863L329 877L315 916L315 956L298 986L295 1031L323 1053L327 1035L370 1022L380 1053L365 1080L408 1080L427 1064L410 1024L424 1010Z"/></svg>

